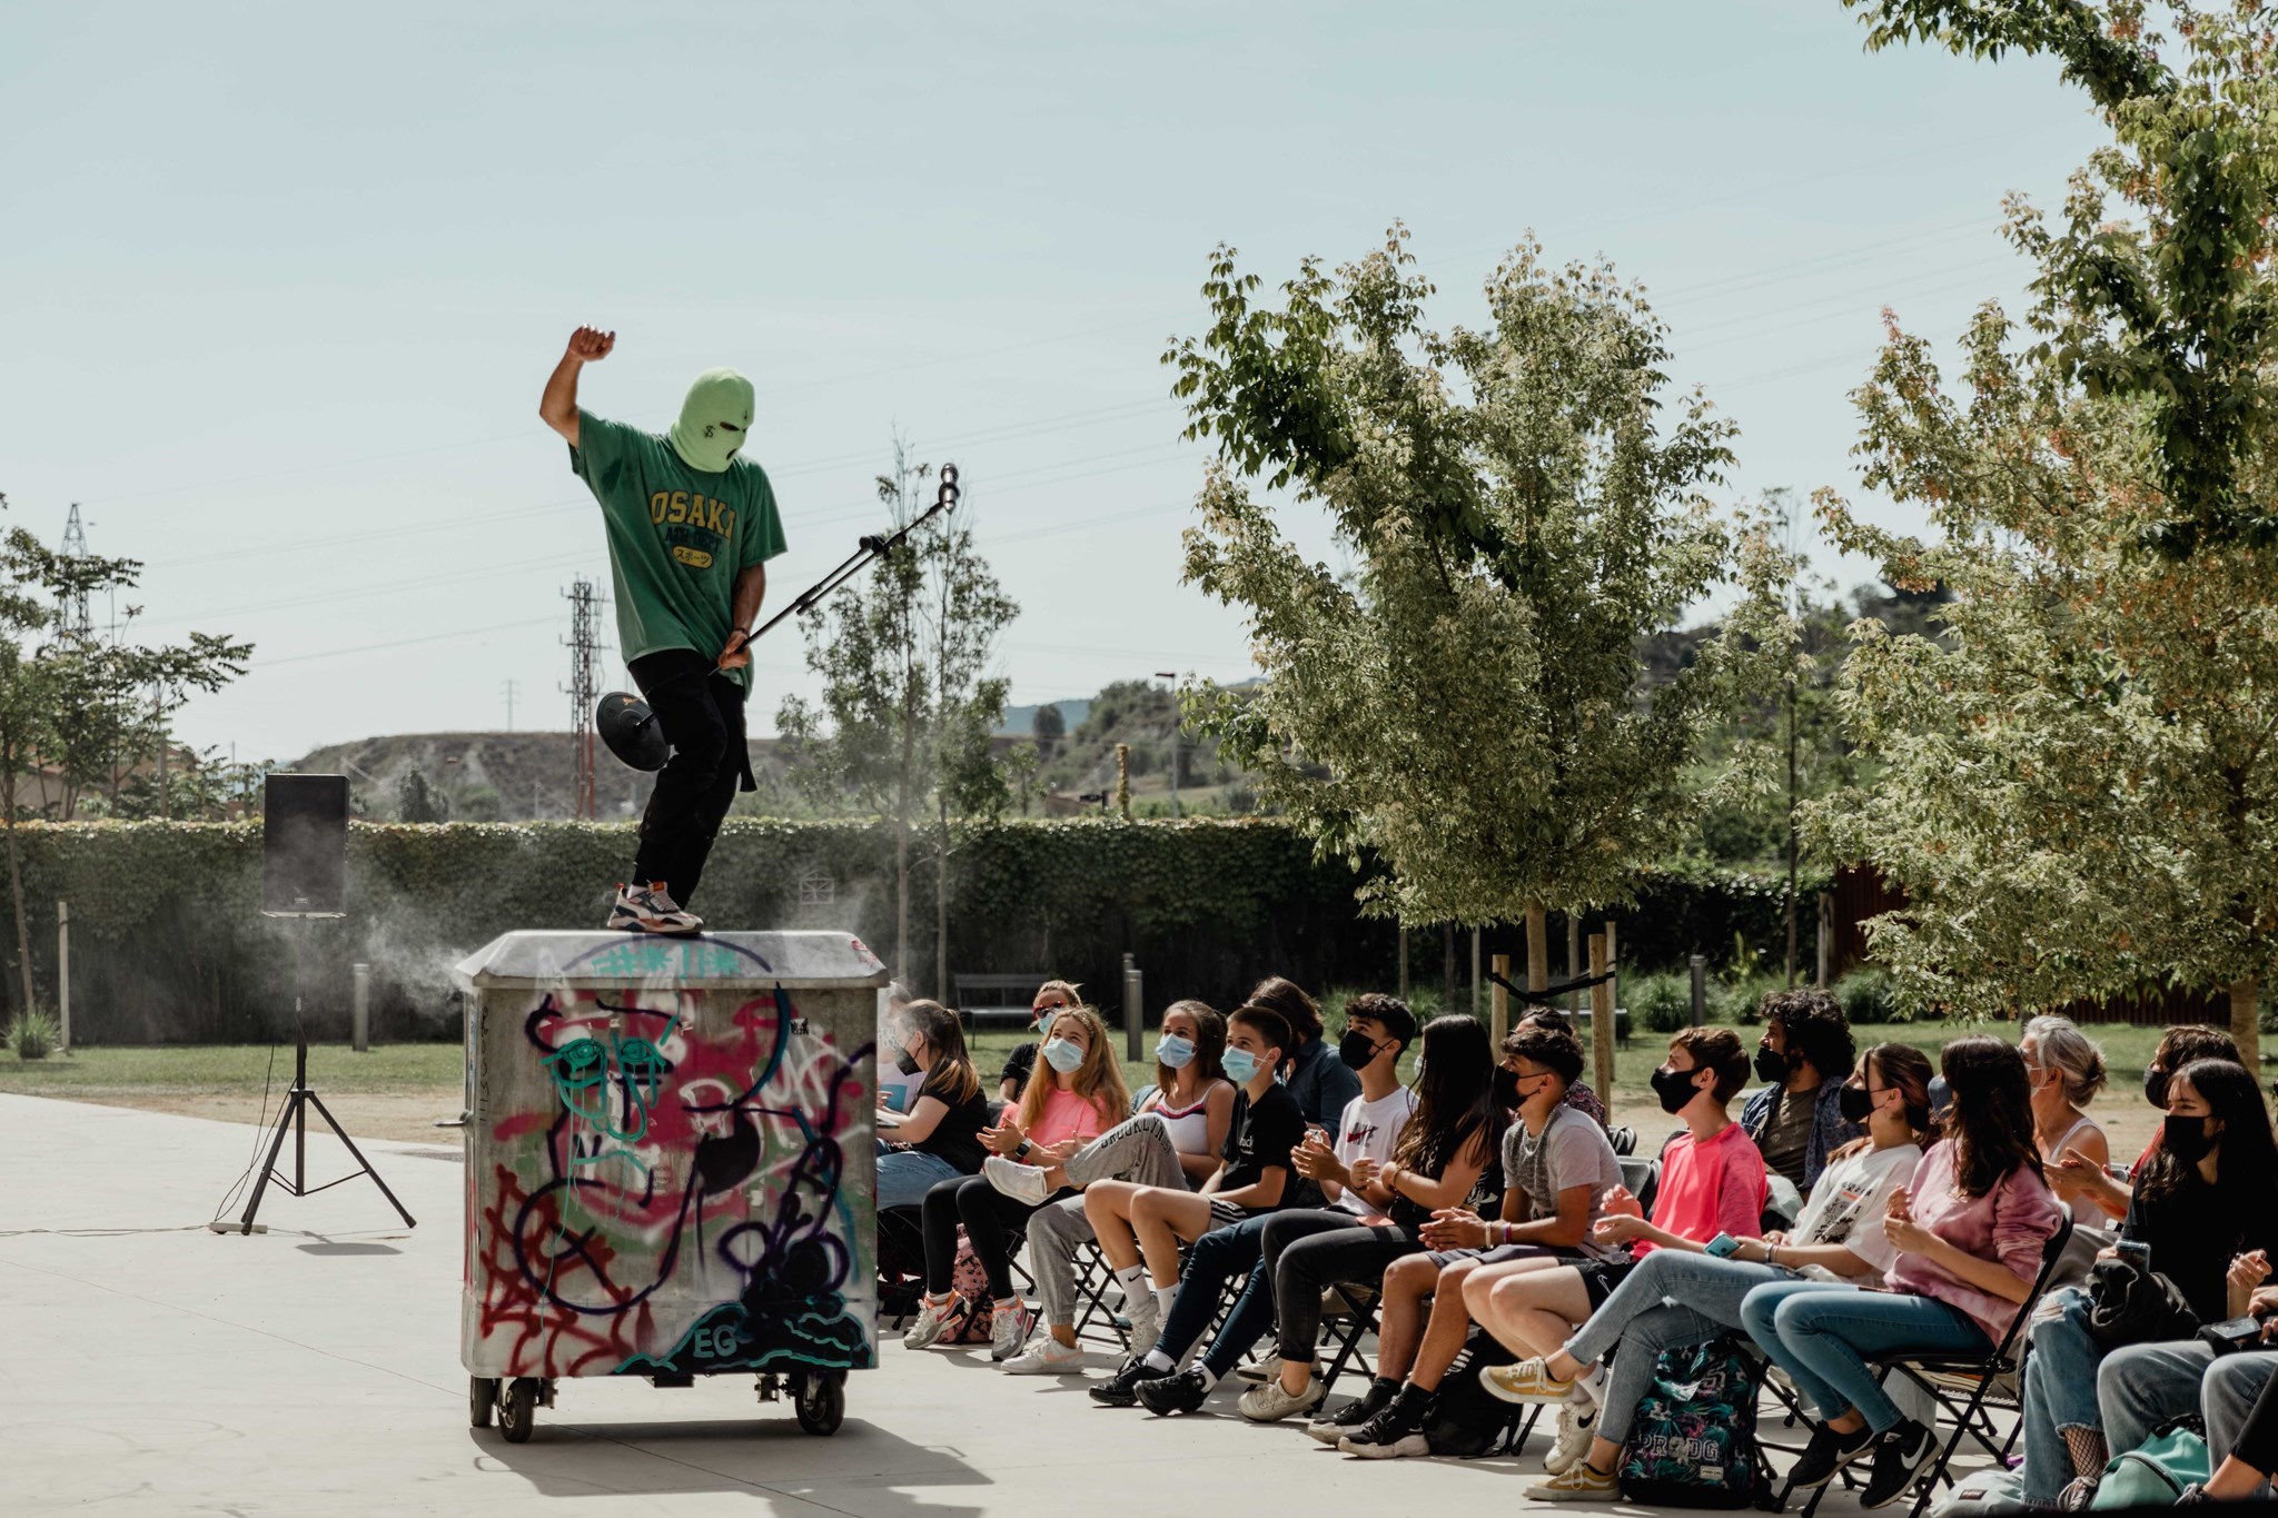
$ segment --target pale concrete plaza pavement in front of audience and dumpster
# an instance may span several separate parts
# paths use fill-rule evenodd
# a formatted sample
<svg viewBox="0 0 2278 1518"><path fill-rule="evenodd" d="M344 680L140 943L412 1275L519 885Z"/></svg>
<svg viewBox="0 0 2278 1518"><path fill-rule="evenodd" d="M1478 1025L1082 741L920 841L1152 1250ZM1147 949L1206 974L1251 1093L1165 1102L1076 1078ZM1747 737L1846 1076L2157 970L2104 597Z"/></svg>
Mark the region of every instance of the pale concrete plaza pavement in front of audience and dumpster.
<svg viewBox="0 0 2278 1518"><path fill-rule="evenodd" d="M1011 1379L980 1350L907 1354L847 1384L834 1438L749 1379L688 1391L563 1381L526 1445L467 1427L456 1145L374 1142L419 1227L349 1183L271 1195L273 1234L203 1229L255 1129L0 1097L7 1370L0 1511L863 1516L1529 1511L1529 1459L1344 1459L1294 1425L1162 1422L1075 1379ZM310 1145L317 1177L335 1145ZM1107 1359L1096 1356L1105 1370ZM1554 1509L1533 1509L1554 1511ZM1847 1498L1829 1513L1854 1511Z"/></svg>

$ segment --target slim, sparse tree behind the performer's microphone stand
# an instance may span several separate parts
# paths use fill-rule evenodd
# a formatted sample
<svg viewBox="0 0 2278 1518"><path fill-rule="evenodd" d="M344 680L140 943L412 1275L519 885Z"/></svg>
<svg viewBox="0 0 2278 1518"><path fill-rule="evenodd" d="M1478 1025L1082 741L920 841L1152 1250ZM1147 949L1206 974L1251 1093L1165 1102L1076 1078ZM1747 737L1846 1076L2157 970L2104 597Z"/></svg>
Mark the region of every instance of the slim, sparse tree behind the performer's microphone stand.
<svg viewBox="0 0 2278 1518"><path fill-rule="evenodd" d="M895 528L925 510L929 476L932 467L911 464L895 439L893 473L877 478ZM993 815L1009 801L989 742L1007 683L986 669L1016 610L973 530L936 517L879 558L868 583L800 614L806 667L822 678L822 696L786 696L777 731L795 753L793 783L816 803L854 801L893 824L895 974L909 974L909 835L927 801L943 831L939 869L948 867L952 815ZM936 992L945 992L945 876L936 892Z"/></svg>

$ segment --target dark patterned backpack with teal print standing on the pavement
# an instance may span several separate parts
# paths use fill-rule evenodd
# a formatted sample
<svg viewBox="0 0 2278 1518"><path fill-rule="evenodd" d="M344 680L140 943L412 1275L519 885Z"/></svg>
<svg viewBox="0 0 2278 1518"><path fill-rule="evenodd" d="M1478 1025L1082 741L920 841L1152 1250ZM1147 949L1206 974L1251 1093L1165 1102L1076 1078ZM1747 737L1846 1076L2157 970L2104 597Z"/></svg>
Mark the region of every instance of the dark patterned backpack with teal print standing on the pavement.
<svg viewBox="0 0 2278 1518"><path fill-rule="evenodd" d="M1756 1447L1759 1368L1734 1338L1667 1350L1622 1445L1622 1500L1750 1507L1772 1491Z"/></svg>

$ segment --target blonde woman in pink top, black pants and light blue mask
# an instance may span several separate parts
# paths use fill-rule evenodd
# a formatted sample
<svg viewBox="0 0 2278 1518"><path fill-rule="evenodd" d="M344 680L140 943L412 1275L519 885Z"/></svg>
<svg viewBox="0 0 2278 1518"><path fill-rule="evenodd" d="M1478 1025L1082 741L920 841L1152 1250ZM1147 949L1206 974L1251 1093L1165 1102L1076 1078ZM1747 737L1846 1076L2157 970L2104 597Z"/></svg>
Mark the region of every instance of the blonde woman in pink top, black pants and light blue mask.
<svg viewBox="0 0 2278 1518"><path fill-rule="evenodd" d="M1021 1108L980 1136L991 1152L1032 1165L1068 1158L1121 1122L1132 1104L1107 1024L1089 1006L1052 1013L1039 1054L1043 1067L1021 1092ZM941 1181L925 1193L925 1302L918 1322L902 1336L904 1347L932 1347L957 1320L950 1270L957 1265L957 1224L964 1224L973 1254L989 1274L989 1359L1005 1361L1021 1352L1036 1315L1011 1290L1005 1243L1027 1224L1036 1206L1007 1197L977 1174Z"/></svg>

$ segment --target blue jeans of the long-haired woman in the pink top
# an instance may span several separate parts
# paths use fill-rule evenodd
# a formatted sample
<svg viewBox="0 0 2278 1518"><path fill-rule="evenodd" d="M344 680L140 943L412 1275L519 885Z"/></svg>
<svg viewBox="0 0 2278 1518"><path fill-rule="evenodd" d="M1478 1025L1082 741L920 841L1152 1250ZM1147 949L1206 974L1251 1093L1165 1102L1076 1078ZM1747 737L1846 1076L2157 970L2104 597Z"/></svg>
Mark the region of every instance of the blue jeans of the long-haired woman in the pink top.
<svg viewBox="0 0 2278 1518"><path fill-rule="evenodd" d="M1740 1320L1772 1363L1788 1372L1820 1418L1859 1409L1868 1427L1888 1434L1904 1413L1868 1366L1870 1354L1991 1354L1993 1340L1959 1306L1820 1281L1775 1281L1747 1293Z"/></svg>

